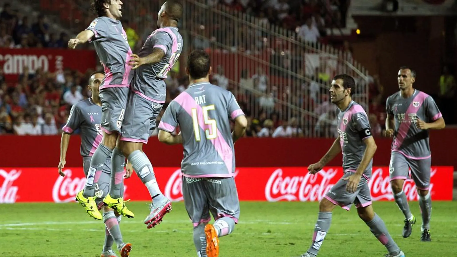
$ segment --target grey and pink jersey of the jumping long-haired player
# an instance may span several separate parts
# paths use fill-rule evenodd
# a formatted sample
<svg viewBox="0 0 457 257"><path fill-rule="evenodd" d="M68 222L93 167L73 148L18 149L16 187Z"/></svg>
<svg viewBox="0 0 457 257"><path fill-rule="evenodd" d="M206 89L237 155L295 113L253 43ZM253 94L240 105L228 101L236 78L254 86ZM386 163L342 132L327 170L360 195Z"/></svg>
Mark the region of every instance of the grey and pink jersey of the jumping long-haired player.
<svg viewBox="0 0 457 257"><path fill-rule="evenodd" d="M98 17L86 28L94 32L90 42L94 43L95 51L105 68L105 79L100 89L108 87L129 87L133 78L132 49L127 41L127 34L120 21L106 16Z"/></svg>

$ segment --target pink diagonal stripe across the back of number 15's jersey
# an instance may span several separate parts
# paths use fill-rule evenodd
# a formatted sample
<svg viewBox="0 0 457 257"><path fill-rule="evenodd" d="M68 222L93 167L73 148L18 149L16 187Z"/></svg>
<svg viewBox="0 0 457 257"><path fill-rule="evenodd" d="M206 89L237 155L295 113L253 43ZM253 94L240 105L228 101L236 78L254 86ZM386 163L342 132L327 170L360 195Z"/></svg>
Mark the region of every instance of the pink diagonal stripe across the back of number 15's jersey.
<svg viewBox="0 0 457 257"><path fill-rule="evenodd" d="M182 92L180 95L178 95L175 98L175 101L182 106L182 108L189 114L192 115L192 109L195 108L197 109L197 120L198 120L198 125L202 128L203 131L208 129L210 133L211 131L211 126L207 125L204 123L203 120L203 110L200 105L197 105L197 102L192 98L192 96L187 93L187 92ZM217 129L217 128L216 128ZM211 141L211 143L214 145L214 148L216 149L216 152L218 152L219 156L227 166L228 174L232 173L232 162L233 162L233 152L232 148L228 145L227 142L225 142L221 131L217 129L216 131L218 133L218 136L215 139L208 139Z"/></svg>

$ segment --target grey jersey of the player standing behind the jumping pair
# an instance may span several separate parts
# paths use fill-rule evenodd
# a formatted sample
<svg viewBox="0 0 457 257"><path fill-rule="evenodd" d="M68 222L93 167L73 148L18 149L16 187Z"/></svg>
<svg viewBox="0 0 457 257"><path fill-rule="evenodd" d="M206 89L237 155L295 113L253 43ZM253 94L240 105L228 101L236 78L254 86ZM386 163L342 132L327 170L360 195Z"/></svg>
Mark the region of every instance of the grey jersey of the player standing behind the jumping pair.
<svg viewBox="0 0 457 257"><path fill-rule="evenodd" d="M81 129L81 156L92 156L103 137L100 129L101 106L86 99L73 105L68 116L67 124L62 131L72 134L73 131Z"/></svg>

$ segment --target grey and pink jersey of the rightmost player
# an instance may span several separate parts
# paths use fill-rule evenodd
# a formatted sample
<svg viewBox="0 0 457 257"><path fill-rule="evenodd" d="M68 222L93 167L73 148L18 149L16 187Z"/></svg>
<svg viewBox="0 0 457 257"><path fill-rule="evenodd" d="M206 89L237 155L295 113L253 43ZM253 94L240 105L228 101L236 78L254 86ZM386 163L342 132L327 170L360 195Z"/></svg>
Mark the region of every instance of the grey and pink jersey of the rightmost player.
<svg viewBox="0 0 457 257"><path fill-rule="evenodd" d="M387 98L386 112L395 119L392 151L411 159L429 158L429 131L418 129L416 121L433 122L442 117L433 98L417 89L409 98L403 98L399 91Z"/></svg>

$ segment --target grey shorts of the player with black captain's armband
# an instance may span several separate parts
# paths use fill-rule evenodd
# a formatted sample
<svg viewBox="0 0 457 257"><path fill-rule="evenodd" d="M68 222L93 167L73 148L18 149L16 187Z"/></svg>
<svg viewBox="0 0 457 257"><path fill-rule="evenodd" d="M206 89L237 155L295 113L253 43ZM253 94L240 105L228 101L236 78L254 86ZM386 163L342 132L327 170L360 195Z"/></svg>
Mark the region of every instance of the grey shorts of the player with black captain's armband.
<svg viewBox="0 0 457 257"><path fill-rule="evenodd" d="M352 172L346 172L338 182L325 194L324 198L328 199L335 205L340 205L345 210L350 210L352 203L356 208L365 207L372 204L370 188L368 187L368 180L364 176L360 178L359 185L356 192L348 192L346 190L347 178L351 176Z"/></svg>

